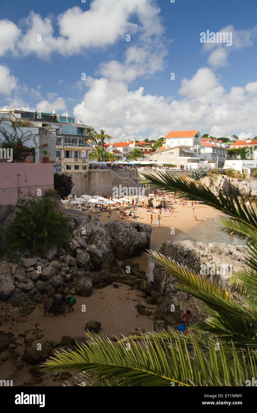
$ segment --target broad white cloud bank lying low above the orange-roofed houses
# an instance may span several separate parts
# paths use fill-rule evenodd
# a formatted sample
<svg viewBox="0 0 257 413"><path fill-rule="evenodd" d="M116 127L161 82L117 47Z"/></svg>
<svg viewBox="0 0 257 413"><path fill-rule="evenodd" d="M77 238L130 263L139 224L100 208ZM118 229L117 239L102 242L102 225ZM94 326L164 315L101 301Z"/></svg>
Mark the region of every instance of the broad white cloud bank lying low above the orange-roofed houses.
<svg viewBox="0 0 257 413"><path fill-rule="evenodd" d="M181 129L210 131L217 138L257 135L257 93L248 93L253 87L248 83L227 92L207 68L182 80L180 93L185 97L181 100L144 94L144 88L131 91L125 81L111 78L87 78L86 83L88 91L73 113L97 130L104 128L114 142L138 136L157 139Z"/></svg>

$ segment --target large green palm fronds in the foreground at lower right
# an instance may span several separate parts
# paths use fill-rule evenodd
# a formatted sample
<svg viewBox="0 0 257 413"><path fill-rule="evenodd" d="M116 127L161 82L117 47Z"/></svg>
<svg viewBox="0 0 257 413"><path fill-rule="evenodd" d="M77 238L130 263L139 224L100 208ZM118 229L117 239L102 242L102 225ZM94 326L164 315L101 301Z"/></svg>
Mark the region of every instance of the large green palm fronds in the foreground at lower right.
<svg viewBox="0 0 257 413"><path fill-rule="evenodd" d="M78 350L63 351L45 363L48 371L73 370L88 386L245 386L257 377L257 216L237 197L214 195L203 185L197 186L165 173L143 174L141 183L179 197L199 200L231 218L220 218L222 231L245 240L247 264L233 273L233 289L240 301L231 299L230 291L218 281L195 273L160 253L149 255L177 277L178 288L203 303L207 318L194 325L195 334L179 335L175 330L130 337L91 335L92 342L78 345ZM190 330L189 330L190 331ZM219 344L217 350L216 344ZM186 346L191 345L189 356ZM129 347L128 347L129 346Z"/></svg>

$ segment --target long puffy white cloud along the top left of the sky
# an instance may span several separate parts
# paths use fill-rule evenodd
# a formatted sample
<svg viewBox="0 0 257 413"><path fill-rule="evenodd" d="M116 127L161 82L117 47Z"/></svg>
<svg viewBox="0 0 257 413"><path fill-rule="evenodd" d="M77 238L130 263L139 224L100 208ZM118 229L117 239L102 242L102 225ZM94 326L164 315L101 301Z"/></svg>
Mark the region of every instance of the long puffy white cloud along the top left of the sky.
<svg viewBox="0 0 257 413"><path fill-rule="evenodd" d="M126 34L147 42L151 36L163 34L160 9L151 0L93 0L90 9L72 7L57 17L59 33L54 36L54 21L30 12L21 21L25 31L11 21L0 21L0 53L35 54L46 59L52 52L71 56L89 48L103 48ZM136 16L137 23L132 22Z"/></svg>

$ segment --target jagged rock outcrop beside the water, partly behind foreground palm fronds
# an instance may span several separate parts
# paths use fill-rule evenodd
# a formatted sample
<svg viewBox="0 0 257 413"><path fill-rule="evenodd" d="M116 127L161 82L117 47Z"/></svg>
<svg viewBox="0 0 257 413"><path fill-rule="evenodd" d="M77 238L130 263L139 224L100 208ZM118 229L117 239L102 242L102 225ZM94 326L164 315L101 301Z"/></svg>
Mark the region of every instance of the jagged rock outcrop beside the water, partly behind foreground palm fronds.
<svg viewBox="0 0 257 413"><path fill-rule="evenodd" d="M225 265L232 269L232 272L243 268L245 265L245 257L243 252L245 247L237 245L220 244L217 242L204 244L203 242L166 242L160 253L174 259L179 264L184 264L196 273L201 271L201 265L215 264L215 273L212 279L218 280L222 286L229 285L229 274L217 274L217 268ZM211 267L212 266L212 267ZM230 266L230 267L228 267ZM224 267L223 267L224 268ZM211 273L210 273L211 274ZM206 274L206 277L210 275ZM189 294L186 294L171 284L176 284L177 279L174 275L164 270L158 263L155 263L153 268L153 280L156 291L151 293L151 304L157 304L158 308L154 316L155 330L159 331L163 328L177 327L180 320L180 314L186 310L191 310L193 313L193 322L203 320L205 314L202 310L202 304ZM231 290L232 298L238 300L238 294ZM174 305L174 311L171 306Z"/></svg>

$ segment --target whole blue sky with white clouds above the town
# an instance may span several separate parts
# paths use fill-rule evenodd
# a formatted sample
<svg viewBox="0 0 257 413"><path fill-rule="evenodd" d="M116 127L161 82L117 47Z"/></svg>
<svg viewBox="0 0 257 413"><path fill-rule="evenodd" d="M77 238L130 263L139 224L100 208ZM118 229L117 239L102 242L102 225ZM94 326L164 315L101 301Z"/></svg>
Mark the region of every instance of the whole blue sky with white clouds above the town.
<svg viewBox="0 0 257 413"><path fill-rule="evenodd" d="M0 9L0 107L68 112L114 141L186 129L257 135L257 3L13 0ZM232 33L232 45L200 43L207 30Z"/></svg>

